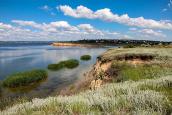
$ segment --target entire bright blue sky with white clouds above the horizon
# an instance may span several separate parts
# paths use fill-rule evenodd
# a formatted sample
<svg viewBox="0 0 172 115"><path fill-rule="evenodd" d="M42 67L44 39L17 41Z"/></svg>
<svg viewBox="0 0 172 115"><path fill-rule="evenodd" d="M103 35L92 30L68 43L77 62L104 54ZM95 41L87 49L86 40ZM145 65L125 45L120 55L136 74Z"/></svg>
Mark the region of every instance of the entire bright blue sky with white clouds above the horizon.
<svg viewBox="0 0 172 115"><path fill-rule="evenodd" d="M172 41L172 0L0 0L0 41Z"/></svg>

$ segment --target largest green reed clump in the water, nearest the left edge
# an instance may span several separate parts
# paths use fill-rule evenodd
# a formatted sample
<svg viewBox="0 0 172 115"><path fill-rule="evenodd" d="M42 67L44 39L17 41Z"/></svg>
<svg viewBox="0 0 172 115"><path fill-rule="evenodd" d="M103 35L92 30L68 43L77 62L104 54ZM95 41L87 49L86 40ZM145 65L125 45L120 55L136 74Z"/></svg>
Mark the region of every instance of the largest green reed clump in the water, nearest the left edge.
<svg viewBox="0 0 172 115"><path fill-rule="evenodd" d="M47 78L45 70L31 70L26 72L19 72L8 76L3 81L4 87L19 87L27 86Z"/></svg>

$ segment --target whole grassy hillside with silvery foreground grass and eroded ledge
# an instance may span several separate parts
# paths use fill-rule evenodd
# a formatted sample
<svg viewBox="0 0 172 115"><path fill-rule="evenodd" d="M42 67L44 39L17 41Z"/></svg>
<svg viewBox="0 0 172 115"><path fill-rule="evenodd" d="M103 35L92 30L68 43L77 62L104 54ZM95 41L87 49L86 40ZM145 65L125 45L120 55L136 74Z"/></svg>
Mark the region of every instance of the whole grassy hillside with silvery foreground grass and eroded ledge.
<svg viewBox="0 0 172 115"><path fill-rule="evenodd" d="M111 65L103 77L120 79L72 96L33 99L0 114L136 114L172 113L172 49L110 49L99 58Z"/></svg>

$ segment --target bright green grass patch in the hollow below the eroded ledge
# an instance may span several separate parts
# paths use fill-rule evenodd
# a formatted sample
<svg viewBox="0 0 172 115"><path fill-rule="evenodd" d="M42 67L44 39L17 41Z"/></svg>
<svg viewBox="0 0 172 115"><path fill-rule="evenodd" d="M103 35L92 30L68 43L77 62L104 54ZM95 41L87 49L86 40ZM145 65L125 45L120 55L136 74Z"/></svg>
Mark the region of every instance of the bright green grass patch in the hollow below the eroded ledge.
<svg viewBox="0 0 172 115"><path fill-rule="evenodd" d="M118 72L118 79L122 81L140 79L158 78L161 76L172 75L172 69L169 67L161 67L160 65L146 64L146 65L131 65L126 62L114 61L112 69Z"/></svg>

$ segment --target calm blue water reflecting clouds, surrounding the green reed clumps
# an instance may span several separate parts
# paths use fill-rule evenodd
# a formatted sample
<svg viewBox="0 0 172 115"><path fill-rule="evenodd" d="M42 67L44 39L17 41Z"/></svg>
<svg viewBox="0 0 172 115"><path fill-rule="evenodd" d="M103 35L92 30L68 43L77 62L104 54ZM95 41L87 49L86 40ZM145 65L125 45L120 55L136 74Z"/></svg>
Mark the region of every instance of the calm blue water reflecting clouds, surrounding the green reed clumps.
<svg viewBox="0 0 172 115"><path fill-rule="evenodd" d="M96 57L107 48L53 47L48 44L26 45L10 44L0 46L0 80L8 75L31 69L46 69L48 64L66 59L78 59L81 55L92 56L90 61L81 61L75 69L48 71L47 80L32 87L22 89L2 89L1 98L8 96L45 97L55 95L65 86L83 77L96 62Z"/></svg>

